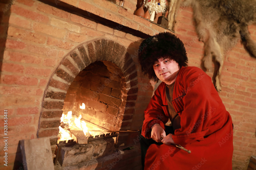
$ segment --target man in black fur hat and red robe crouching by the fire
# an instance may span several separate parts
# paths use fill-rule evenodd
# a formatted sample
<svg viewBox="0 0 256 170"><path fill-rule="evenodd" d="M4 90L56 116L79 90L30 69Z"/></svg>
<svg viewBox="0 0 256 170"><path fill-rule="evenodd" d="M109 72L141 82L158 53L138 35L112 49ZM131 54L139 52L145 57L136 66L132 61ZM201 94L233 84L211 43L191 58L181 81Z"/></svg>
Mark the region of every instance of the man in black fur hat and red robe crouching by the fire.
<svg viewBox="0 0 256 170"><path fill-rule="evenodd" d="M187 67L184 44L171 33L145 39L140 49L142 71L162 81L144 112L142 135L156 141L147 149L144 169L231 170L232 120L211 78L197 67ZM173 134L165 132L169 119Z"/></svg>

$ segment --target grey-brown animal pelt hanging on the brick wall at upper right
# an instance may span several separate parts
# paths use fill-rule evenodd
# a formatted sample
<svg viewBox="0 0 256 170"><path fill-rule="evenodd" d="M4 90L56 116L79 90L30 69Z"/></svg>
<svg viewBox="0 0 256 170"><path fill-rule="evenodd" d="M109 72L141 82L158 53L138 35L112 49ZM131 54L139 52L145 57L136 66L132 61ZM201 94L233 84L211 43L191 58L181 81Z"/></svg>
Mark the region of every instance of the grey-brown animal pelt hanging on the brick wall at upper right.
<svg viewBox="0 0 256 170"><path fill-rule="evenodd" d="M199 40L205 44L204 66L211 71L212 59L219 65L215 87L220 91L225 55L238 41L256 57L256 44L248 31L248 25L256 23L256 0L192 0L191 7Z"/></svg>

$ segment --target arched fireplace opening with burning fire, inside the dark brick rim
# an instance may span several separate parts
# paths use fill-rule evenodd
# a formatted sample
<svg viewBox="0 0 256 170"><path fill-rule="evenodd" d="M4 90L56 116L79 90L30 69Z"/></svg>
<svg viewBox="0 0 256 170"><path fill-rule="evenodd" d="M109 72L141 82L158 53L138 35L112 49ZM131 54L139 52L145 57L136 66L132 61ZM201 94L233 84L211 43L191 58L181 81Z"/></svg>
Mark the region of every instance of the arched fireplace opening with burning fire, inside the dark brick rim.
<svg viewBox="0 0 256 170"><path fill-rule="evenodd" d="M90 149L91 145L97 145L98 149L101 148L99 153L94 152L93 156L89 156L91 158L99 158L105 156L106 153L113 153L118 134L109 131L121 128L123 119L121 111L124 109L120 110L120 107L124 105L122 102L127 96L123 92L123 82L121 70L110 61L91 63L75 77L67 90L62 109L61 126L59 127L58 147L62 146L59 148L59 152L65 153L65 156L61 156L59 152L56 153L56 156L62 166L73 164L65 163L64 158L73 150L77 150L77 145L69 146L68 142L72 144L72 141L77 137L75 133L78 130L84 132L88 140L88 144L87 140L85 143L88 146L80 146L80 148L84 148L86 160L88 160L88 154L91 155L87 152L94 152ZM75 125L76 127L74 127ZM65 130L68 132L69 138L63 139ZM73 134L73 132L75 136L71 137L70 133ZM97 141L97 139L100 140ZM84 144L83 142L77 143ZM69 147L62 143L67 143L65 145ZM108 151L104 151L106 149ZM79 153L79 155L81 154Z"/></svg>

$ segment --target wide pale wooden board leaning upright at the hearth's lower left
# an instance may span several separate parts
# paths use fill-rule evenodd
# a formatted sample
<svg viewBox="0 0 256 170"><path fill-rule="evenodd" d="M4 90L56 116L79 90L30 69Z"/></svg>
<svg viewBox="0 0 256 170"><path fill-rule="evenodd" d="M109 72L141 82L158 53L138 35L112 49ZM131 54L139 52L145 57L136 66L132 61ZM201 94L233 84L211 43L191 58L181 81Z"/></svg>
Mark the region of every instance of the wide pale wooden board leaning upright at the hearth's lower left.
<svg viewBox="0 0 256 170"><path fill-rule="evenodd" d="M49 137L20 140L25 170L54 170Z"/></svg>

